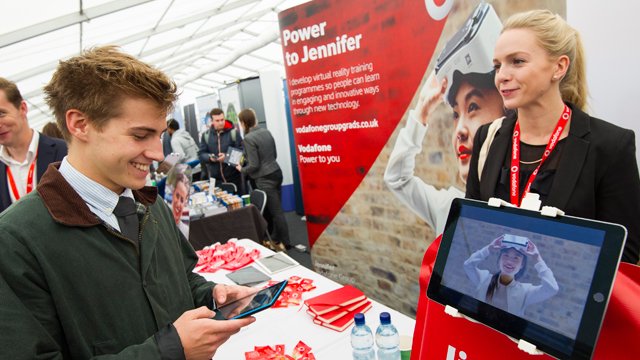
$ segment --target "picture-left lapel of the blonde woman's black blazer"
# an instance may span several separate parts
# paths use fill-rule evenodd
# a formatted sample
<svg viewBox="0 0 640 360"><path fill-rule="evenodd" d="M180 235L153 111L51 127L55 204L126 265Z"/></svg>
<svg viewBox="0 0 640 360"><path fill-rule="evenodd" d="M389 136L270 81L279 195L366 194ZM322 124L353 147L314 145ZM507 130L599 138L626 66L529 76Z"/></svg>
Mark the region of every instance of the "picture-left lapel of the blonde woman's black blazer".
<svg viewBox="0 0 640 360"><path fill-rule="evenodd" d="M480 197L484 200L489 200L490 197L494 196L498 177L504 163L504 154L509 150L509 144L511 143L514 124L515 120L513 118L505 118L502 127L496 132L496 136L493 138L489 148L487 162L485 162L482 170L482 181L480 181Z"/></svg>

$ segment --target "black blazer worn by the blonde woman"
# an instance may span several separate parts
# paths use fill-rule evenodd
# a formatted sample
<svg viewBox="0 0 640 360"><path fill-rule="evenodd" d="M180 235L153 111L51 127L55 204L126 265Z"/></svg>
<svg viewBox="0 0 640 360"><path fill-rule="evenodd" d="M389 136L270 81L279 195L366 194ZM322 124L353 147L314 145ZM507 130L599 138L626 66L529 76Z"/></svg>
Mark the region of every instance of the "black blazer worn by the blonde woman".
<svg viewBox="0 0 640 360"><path fill-rule="evenodd" d="M622 260L637 263L640 253L640 176L635 134L572 109L569 135L551 190L543 205L567 215L622 224L628 236ZM478 154L489 124L478 129L473 144L466 197L487 201L496 193L499 176L511 151L516 115L504 119L496 132L478 180ZM543 165L544 168L544 165ZM507 202L509 199L503 199Z"/></svg>

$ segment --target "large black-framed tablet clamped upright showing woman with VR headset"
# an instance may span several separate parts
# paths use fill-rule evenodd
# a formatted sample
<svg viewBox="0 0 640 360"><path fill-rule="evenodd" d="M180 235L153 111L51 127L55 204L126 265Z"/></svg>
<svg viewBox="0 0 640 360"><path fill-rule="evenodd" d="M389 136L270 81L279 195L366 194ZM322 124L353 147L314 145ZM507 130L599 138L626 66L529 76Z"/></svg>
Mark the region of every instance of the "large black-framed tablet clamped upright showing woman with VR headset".
<svg viewBox="0 0 640 360"><path fill-rule="evenodd" d="M593 352L626 230L456 199L428 296L557 357Z"/></svg>

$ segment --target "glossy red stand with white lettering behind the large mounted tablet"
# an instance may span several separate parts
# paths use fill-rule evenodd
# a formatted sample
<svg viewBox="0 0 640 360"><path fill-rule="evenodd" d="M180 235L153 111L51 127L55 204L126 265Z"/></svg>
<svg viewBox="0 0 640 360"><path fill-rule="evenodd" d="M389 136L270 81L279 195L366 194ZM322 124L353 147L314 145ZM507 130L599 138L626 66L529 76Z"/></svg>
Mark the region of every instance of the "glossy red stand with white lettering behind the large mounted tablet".
<svg viewBox="0 0 640 360"><path fill-rule="evenodd" d="M420 297L411 360L551 359L529 355L505 335L479 323L454 318L427 298L441 237L427 249L420 269ZM613 286L594 359L635 359L640 354L640 267L622 263Z"/></svg>

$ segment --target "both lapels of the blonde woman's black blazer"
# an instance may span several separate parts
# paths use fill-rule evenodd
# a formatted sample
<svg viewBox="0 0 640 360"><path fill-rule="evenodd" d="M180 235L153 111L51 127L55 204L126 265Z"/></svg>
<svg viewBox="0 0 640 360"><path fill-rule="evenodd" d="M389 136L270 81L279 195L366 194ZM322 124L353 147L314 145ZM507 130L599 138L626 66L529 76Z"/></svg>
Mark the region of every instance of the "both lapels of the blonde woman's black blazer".
<svg viewBox="0 0 640 360"><path fill-rule="evenodd" d="M571 190L576 186L584 161L589 150L589 140L587 135L591 132L591 118L589 115L567 103L571 108L571 122L569 125L569 135L565 139L562 156L558 164L558 170L553 179L553 185L544 205L555 206L558 209L565 209ZM483 199L494 196L495 187L498 183L500 171L504 166L505 154L510 153L511 138L513 128L516 123L516 114L510 114L505 118L502 126L496 132L491 144L485 169L480 182L480 195Z"/></svg>

